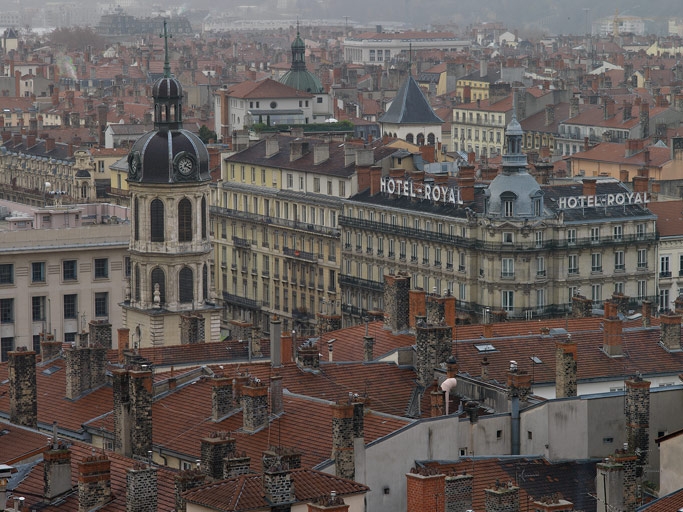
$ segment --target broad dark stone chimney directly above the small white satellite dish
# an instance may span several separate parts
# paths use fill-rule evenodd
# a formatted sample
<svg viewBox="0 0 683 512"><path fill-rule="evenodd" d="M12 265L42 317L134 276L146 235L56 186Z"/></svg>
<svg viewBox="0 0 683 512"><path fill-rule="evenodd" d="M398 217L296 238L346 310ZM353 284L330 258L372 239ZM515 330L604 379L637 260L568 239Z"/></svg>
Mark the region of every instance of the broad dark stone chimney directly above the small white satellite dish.
<svg viewBox="0 0 683 512"><path fill-rule="evenodd" d="M448 325L434 324L418 324L415 329L415 372L417 381L427 387L434 380L434 369L451 355L453 330Z"/></svg>

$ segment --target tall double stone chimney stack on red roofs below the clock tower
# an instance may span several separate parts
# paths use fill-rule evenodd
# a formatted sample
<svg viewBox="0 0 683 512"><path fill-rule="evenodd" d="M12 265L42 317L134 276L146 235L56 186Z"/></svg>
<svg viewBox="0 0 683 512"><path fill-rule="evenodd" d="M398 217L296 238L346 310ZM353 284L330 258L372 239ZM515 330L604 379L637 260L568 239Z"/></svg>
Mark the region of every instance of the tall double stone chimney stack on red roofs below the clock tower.
<svg viewBox="0 0 683 512"><path fill-rule="evenodd" d="M114 450L147 458L152 449L152 371L114 370Z"/></svg>

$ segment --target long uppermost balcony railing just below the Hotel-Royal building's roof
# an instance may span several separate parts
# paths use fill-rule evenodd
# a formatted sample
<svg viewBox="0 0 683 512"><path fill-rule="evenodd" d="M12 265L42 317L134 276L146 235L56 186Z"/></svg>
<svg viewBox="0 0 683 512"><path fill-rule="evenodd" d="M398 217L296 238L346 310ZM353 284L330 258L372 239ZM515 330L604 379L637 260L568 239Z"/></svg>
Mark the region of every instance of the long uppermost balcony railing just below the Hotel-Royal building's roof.
<svg viewBox="0 0 683 512"><path fill-rule="evenodd" d="M630 243L651 243L657 240L656 233L632 234L623 235L620 239L607 238L596 242L590 237L585 238L571 238L569 240L543 240L538 242L532 240L529 242L506 243L503 242L482 242L473 238L465 238L456 235L449 235L447 233L439 233L437 231L428 231L425 229L415 229L410 227L403 227L396 224L387 224L384 222L377 222L365 219L356 219L346 215L339 217L339 225L342 227L356 228L374 233L384 233L387 235L419 239L428 242L442 243L461 248L475 248L481 251L501 252L521 252L521 251L539 251L552 249L566 249L567 247L590 247L596 243L601 245L626 245ZM350 249L346 247L346 249Z"/></svg>

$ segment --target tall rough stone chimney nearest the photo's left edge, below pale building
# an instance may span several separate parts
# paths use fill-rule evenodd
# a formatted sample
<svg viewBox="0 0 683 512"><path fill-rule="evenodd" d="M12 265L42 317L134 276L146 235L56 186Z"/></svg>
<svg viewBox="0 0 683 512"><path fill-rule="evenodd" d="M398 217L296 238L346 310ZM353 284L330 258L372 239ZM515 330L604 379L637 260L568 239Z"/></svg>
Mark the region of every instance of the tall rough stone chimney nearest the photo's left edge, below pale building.
<svg viewBox="0 0 683 512"><path fill-rule="evenodd" d="M9 420L15 425L38 426L36 353L12 351L8 355Z"/></svg>

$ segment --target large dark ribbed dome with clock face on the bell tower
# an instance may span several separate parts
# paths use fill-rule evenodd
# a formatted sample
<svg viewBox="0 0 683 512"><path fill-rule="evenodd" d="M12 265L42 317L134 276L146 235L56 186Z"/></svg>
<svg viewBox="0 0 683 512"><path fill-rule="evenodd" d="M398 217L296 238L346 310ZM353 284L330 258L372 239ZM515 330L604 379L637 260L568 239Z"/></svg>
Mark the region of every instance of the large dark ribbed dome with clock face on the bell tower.
<svg viewBox="0 0 683 512"><path fill-rule="evenodd" d="M180 165L190 161L191 169ZM209 152L194 133L151 131L140 137L128 156L128 180L137 183L209 181Z"/></svg>

